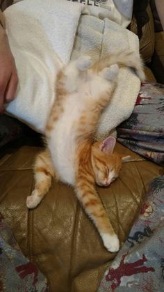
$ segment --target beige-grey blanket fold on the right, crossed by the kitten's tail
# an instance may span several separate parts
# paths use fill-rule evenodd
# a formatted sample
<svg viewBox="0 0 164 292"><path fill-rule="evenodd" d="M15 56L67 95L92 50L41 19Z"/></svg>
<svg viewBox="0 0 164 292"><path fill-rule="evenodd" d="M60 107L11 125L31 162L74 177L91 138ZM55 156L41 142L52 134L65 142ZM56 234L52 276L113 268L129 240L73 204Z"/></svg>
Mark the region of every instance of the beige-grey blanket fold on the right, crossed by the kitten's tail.
<svg viewBox="0 0 164 292"><path fill-rule="evenodd" d="M89 54L97 60L106 54L126 51L139 54L138 37L119 24L108 20L98 20L92 15L83 15L76 33L72 58ZM101 115L95 139L107 137L122 121L133 112L140 80L130 68L120 68L118 86L109 105Z"/></svg>

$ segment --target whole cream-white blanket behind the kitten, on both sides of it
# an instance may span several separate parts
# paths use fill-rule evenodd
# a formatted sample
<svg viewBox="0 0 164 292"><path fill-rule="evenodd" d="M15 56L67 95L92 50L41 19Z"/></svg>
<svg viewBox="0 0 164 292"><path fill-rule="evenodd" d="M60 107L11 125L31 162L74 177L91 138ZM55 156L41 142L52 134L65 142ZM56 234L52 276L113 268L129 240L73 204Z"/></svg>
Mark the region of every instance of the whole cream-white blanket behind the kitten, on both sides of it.
<svg viewBox="0 0 164 292"><path fill-rule="evenodd" d="M16 98L7 105L6 112L38 132L44 132L55 100L56 72L71 56L85 53L97 59L120 47L139 52L138 38L133 33L108 19L82 15L82 11L81 3L65 0L24 0L5 10L19 76ZM133 111L140 81L129 68L120 70L119 80L101 117L98 139Z"/></svg>

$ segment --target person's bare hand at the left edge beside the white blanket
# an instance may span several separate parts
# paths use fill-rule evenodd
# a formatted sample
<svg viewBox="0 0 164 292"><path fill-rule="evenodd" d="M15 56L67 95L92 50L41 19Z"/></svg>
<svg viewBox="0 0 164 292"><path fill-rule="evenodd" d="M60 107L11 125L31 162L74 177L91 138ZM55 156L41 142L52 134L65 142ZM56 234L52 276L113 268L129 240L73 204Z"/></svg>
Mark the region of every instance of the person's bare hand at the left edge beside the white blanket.
<svg viewBox="0 0 164 292"><path fill-rule="evenodd" d="M15 98L18 77L13 54L10 51L8 38L5 31L0 27L0 113L3 112L5 102Z"/></svg>

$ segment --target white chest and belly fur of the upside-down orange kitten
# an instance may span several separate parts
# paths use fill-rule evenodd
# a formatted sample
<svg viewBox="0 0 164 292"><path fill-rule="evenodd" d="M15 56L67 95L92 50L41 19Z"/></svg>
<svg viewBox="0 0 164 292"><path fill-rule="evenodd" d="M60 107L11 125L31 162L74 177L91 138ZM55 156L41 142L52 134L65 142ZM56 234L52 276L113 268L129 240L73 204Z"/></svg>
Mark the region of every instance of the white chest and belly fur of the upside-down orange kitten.
<svg viewBox="0 0 164 292"><path fill-rule="evenodd" d="M77 102L76 98L79 97L74 95L65 101L64 112L56 122L49 141L49 150L60 180L70 185L74 185L75 178L76 130L74 130L74 125L78 123L83 109L83 102L80 100Z"/></svg>

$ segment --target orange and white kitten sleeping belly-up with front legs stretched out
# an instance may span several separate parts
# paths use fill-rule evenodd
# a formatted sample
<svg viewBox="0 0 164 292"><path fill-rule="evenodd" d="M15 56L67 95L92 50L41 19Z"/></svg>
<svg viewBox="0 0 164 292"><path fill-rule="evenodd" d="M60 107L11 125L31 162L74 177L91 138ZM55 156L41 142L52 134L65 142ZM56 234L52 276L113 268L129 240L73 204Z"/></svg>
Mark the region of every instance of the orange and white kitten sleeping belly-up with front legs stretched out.
<svg viewBox="0 0 164 292"><path fill-rule="evenodd" d="M94 144L92 137L117 86L119 66L133 67L144 79L142 62L131 52L110 55L94 64L90 56L81 56L58 72L56 101L45 130L47 146L36 157L35 189L26 200L28 208L38 206L52 177L72 185L109 252L118 251L119 239L95 183L110 185L119 176L122 161L129 157L113 153L114 137Z"/></svg>

